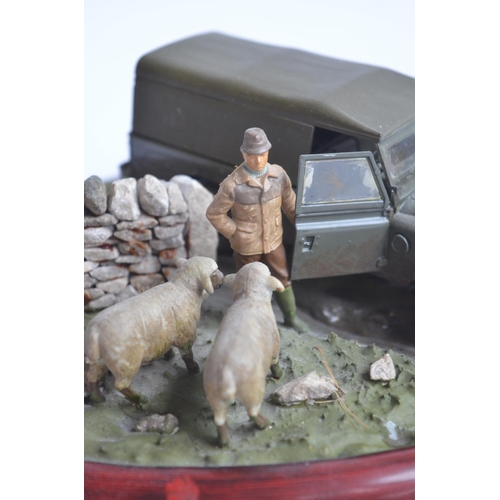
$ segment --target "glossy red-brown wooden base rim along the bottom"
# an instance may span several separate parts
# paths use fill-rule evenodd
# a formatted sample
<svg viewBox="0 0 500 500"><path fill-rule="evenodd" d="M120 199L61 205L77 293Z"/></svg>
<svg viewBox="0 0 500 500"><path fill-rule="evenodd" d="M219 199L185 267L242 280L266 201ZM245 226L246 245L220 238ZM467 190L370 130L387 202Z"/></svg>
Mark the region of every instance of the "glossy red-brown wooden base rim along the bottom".
<svg viewBox="0 0 500 500"><path fill-rule="evenodd" d="M86 499L414 497L414 447L352 458L245 467L137 467L85 462Z"/></svg>

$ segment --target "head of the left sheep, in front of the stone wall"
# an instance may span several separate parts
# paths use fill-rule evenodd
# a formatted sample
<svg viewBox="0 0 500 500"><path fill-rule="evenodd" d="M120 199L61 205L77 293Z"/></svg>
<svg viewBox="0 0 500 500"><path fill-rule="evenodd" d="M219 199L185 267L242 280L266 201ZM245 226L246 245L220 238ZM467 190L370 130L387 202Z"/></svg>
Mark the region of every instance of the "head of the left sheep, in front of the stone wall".
<svg viewBox="0 0 500 500"><path fill-rule="evenodd" d="M175 265L175 281L181 280L209 295L214 293L215 288L222 286L224 275L219 271L217 263L209 257L178 258Z"/></svg>

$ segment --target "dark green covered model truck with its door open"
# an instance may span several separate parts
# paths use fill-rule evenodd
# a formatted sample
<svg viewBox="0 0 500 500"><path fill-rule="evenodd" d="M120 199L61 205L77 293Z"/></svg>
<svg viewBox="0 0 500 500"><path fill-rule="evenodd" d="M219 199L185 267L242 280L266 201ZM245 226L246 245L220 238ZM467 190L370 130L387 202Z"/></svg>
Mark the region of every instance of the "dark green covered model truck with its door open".
<svg viewBox="0 0 500 500"><path fill-rule="evenodd" d="M208 33L136 68L124 176L215 190L247 128L297 190L292 279L415 276L415 80L394 71Z"/></svg>

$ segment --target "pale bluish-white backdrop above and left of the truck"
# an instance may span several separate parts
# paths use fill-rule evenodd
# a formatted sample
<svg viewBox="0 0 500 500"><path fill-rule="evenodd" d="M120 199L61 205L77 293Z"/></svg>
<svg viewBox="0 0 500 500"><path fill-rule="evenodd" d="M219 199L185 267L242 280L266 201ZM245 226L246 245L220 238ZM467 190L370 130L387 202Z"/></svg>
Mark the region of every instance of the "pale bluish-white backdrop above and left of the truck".
<svg viewBox="0 0 500 500"><path fill-rule="evenodd" d="M129 159L135 65L145 53L219 31L415 76L413 0L85 0L84 178Z"/></svg>

